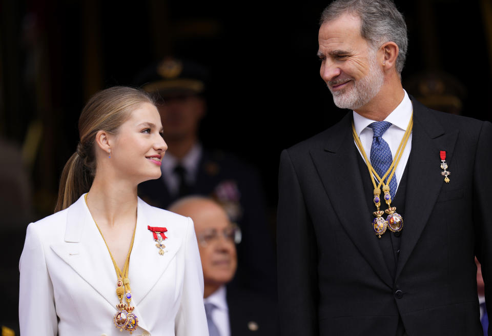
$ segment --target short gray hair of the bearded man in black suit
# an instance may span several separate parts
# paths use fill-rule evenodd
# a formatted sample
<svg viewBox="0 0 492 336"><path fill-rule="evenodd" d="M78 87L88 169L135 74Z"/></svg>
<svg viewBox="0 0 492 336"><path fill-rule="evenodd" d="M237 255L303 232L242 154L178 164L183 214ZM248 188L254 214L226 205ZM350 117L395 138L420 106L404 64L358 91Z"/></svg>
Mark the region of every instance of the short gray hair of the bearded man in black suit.
<svg viewBox="0 0 492 336"><path fill-rule="evenodd" d="M373 48L394 42L399 52L396 70L401 75L408 50L408 37L403 15L392 0L335 0L323 10L320 25L349 13L360 17L360 33Z"/></svg>

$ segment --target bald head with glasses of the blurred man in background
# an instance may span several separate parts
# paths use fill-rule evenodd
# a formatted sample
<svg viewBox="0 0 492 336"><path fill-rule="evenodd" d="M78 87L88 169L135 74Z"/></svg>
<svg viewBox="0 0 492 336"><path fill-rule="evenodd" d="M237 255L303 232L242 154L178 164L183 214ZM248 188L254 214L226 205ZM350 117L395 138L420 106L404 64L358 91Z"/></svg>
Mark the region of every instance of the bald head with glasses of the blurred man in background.
<svg viewBox="0 0 492 336"><path fill-rule="evenodd" d="M237 267L233 225L216 202L205 197L190 196L173 203L169 211L190 217L195 232L203 269L204 297L230 282Z"/></svg>

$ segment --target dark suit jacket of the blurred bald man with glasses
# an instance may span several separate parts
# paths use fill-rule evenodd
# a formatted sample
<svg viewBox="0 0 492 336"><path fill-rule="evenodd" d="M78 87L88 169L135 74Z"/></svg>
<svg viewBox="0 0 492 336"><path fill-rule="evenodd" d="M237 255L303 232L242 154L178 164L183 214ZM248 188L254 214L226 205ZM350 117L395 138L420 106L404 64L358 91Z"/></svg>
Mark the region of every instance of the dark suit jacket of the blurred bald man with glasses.
<svg viewBox="0 0 492 336"><path fill-rule="evenodd" d="M256 292L227 289L231 336L277 336L277 304Z"/></svg>

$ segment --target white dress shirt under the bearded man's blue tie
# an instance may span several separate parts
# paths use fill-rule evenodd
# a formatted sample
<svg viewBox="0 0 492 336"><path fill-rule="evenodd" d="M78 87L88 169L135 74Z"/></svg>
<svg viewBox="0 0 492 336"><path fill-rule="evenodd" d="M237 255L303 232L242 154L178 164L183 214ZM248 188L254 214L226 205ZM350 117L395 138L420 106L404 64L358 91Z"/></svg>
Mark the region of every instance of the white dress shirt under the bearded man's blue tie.
<svg viewBox="0 0 492 336"><path fill-rule="evenodd" d="M405 95L400 105L398 105L396 109L393 110L393 112L389 113L389 115L384 120L392 124L386 130L386 132L384 132L383 139L384 141L387 142L389 146L389 150L391 150L391 155L393 156L393 159L395 159L396 151L398 149L398 146L400 145L401 140L403 139L403 135L405 134L406 128L408 127L408 123L410 122L413 112L412 101L408 97L406 91L405 90L403 91L405 92ZM366 117L363 117L362 115L358 114L355 111L353 111L353 114L354 114L355 131L359 135L359 139L360 142L362 143L362 147L364 148L365 154L367 155L367 159L369 159L371 153L371 145L373 144L373 134L374 134L373 129L369 127L369 125L371 123L374 123L375 120L371 120ZM408 161L408 156L410 155L411 148L412 148L412 133L408 137L408 142L406 143L403 154L401 155L400 162L396 167L395 175L393 176L393 179L396 178L396 181L398 182L398 186L400 185L401 177L403 176L403 171L405 170L405 166Z"/></svg>

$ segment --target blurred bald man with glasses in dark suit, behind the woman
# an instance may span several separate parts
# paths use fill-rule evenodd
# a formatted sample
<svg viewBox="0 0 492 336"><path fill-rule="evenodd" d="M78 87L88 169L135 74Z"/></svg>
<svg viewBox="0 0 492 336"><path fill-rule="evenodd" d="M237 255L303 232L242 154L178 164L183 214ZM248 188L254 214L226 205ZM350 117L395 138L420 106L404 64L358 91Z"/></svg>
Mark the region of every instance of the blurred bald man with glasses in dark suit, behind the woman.
<svg viewBox="0 0 492 336"><path fill-rule="evenodd" d="M216 202L189 196L170 206L189 216L203 268L204 304L210 336L278 335L277 307L264 295L228 287L237 267L236 245L240 231Z"/></svg>

